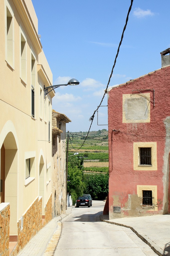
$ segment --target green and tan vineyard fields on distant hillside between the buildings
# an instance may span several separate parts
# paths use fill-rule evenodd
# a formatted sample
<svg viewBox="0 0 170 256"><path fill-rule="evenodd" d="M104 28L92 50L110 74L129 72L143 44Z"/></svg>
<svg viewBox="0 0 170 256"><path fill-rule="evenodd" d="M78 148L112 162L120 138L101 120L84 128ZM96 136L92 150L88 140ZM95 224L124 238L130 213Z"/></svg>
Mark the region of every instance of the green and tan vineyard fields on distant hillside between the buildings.
<svg viewBox="0 0 170 256"><path fill-rule="evenodd" d="M88 136L87 132L70 132L69 136L69 155L78 152L74 157L83 160L85 173L108 172L108 131L106 129L89 132ZM83 144L86 136L87 139Z"/></svg>

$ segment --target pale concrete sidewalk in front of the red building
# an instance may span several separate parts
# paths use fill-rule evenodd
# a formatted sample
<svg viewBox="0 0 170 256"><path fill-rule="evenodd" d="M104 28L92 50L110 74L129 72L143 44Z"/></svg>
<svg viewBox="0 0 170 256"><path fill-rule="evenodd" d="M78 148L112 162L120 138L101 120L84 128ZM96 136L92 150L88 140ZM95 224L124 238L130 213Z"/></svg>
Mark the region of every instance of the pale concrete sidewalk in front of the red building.
<svg viewBox="0 0 170 256"><path fill-rule="evenodd" d="M170 215L152 215L109 220L108 215L100 216L104 222L130 228L160 256L170 256Z"/></svg>

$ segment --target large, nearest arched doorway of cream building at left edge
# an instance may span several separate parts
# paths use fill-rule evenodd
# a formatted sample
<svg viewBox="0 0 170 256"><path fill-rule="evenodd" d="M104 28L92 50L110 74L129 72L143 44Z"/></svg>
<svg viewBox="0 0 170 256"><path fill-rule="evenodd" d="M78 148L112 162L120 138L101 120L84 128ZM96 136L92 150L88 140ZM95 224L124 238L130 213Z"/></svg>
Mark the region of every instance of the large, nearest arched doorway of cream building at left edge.
<svg viewBox="0 0 170 256"><path fill-rule="evenodd" d="M6 129L7 130L7 129ZM0 139L4 137L2 131ZM18 149L13 132L1 144L1 203L10 203L10 235L17 235Z"/></svg>

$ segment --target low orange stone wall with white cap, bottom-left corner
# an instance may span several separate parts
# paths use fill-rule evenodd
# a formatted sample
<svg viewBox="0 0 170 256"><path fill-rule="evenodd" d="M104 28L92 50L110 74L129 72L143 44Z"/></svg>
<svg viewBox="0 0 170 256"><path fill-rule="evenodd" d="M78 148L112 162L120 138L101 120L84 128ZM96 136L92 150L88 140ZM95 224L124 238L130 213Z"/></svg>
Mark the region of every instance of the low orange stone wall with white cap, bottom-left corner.
<svg viewBox="0 0 170 256"><path fill-rule="evenodd" d="M6 203L2 203L1 205L3 204L6 207L0 210L0 256L8 256L10 206Z"/></svg>

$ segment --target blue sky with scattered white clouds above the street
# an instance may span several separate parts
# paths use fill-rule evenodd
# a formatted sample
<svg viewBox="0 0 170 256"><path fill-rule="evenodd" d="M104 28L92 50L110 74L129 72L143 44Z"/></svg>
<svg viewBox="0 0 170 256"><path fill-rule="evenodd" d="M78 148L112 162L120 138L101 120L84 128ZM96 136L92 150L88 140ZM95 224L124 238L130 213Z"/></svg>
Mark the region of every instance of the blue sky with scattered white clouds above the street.
<svg viewBox="0 0 170 256"><path fill-rule="evenodd" d="M130 0L32 0L38 34L53 73L53 84L71 78L79 86L55 89L52 108L72 122L66 130L88 131L114 64ZM170 47L169 1L134 0L109 86L161 68L160 52ZM107 94L102 105L107 105ZM98 124L107 124L107 107L99 108ZM91 131L108 129L97 125Z"/></svg>

